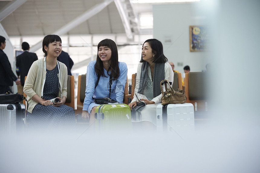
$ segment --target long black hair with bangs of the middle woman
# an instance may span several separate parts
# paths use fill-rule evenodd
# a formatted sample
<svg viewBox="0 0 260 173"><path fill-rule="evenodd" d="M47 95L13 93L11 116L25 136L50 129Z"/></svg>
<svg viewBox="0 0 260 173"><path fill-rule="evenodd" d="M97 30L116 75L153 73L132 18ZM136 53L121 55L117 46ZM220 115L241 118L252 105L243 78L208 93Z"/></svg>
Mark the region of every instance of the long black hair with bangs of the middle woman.
<svg viewBox="0 0 260 173"><path fill-rule="evenodd" d="M112 75L113 80L117 79L119 77L119 66L118 66L118 50L117 50L117 46L115 44L115 42L111 39L105 39L102 40L98 43L98 50L100 46L106 46L109 47L109 49L111 49L111 65L109 67L109 69L107 70L107 72L109 72L111 70L110 75ZM97 59L96 59L96 64L95 64L95 72L97 74L97 76L103 76L103 77L107 77L104 74L103 71L103 62L101 61L101 59L99 58L99 55L97 54Z"/></svg>

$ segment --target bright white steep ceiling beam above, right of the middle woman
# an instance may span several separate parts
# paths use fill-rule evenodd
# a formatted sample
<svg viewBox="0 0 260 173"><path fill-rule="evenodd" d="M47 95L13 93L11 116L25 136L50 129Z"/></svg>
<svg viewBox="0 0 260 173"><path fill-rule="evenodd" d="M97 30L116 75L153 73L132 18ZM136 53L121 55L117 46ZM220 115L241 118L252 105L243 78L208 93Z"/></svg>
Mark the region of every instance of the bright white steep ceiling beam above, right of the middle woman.
<svg viewBox="0 0 260 173"><path fill-rule="evenodd" d="M114 2L115 2L115 6L120 14L123 25L125 27L125 33L126 33L127 38L133 39L130 22L129 22L128 16L126 16L126 14L125 14L126 10L124 10L124 7L122 6L122 3L120 0L115 0Z"/></svg>

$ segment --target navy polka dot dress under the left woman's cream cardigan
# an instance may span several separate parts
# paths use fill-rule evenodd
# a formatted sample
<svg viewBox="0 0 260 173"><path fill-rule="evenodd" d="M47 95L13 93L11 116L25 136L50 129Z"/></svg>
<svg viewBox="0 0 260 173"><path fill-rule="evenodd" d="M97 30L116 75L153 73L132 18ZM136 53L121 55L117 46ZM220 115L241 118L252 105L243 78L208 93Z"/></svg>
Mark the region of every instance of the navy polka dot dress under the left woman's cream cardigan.
<svg viewBox="0 0 260 173"><path fill-rule="evenodd" d="M50 100L56 98L59 92L58 66L53 70L46 69L46 80L43 98ZM72 107L65 104L55 107L36 104L32 113L27 112L27 118L33 127L74 127L76 125L75 113Z"/></svg>

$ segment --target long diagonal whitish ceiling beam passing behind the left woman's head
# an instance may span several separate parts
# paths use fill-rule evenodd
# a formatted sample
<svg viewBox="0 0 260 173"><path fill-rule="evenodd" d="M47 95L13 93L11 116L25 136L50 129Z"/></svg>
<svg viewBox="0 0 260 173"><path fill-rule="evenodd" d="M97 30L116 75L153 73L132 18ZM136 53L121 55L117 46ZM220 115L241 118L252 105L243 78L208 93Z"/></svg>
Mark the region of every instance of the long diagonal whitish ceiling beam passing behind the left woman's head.
<svg viewBox="0 0 260 173"><path fill-rule="evenodd" d="M98 14L104 8L106 8L113 0L105 0L97 5L94 5L92 8L75 18L74 20L70 21L68 24L61 27L59 30L54 32L55 35L63 35L73 29L74 27L82 24L83 22L87 21L89 18L93 17L94 15ZM31 52L35 52L36 50L42 47L42 40L35 44L33 47L30 48Z"/></svg>

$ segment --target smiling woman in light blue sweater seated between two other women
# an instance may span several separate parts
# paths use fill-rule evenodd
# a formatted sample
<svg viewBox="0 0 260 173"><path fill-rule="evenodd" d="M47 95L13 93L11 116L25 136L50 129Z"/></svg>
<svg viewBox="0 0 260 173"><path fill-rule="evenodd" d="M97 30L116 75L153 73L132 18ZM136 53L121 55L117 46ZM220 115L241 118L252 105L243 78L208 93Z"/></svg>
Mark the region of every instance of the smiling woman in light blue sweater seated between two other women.
<svg viewBox="0 0 260 173"><path fill-rule="evenodd" d="M95 109L99 105L93 102L95 98L108 97L123 103L126 77L127 66L125 62L118 62L115 42L110 39L100 41L97 59L89 62L87 67L83 119L89 119L90 124L95 121ZM111 91L110 78L112 79Z"/></svg>

